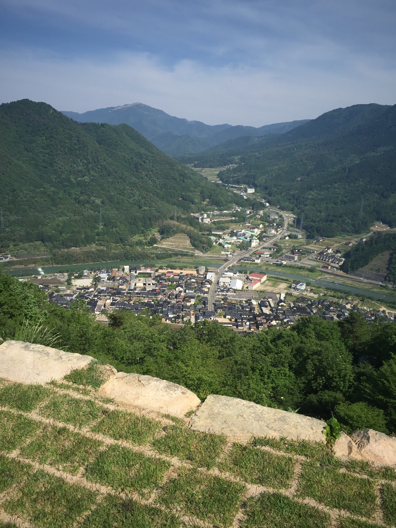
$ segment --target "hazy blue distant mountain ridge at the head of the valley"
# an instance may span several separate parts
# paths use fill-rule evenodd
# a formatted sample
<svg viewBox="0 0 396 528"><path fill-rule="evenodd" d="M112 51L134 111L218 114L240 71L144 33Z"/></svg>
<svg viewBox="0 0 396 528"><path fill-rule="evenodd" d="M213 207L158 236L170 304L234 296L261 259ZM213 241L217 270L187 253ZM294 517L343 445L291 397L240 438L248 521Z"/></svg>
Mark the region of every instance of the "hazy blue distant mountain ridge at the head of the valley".
<svg viewBox="0 0 396 528"><path fill-rule="evenodd" d="M169 116L163 110L136 102L118 107L89 110L83 114L62 111L65 116L79 122L103 122L110 125L125 123L135 128L166 154L178 156L203 152L229 139L241 136L264 136L283 134L307 120L264 125L262 127L205 125L201 121L188 121Z"/></svg>

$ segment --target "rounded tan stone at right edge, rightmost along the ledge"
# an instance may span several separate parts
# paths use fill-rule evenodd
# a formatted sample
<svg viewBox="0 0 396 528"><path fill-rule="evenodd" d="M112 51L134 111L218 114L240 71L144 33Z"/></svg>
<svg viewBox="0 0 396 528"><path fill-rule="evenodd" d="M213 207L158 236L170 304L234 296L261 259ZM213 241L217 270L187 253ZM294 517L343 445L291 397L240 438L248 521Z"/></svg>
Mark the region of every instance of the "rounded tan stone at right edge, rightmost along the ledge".
<svg viewBox="0 0 396 528"><path fill-rule="evenodd" d="M396 467L396 438L372 429L360 429L351 437L365 460L381 466Z"/></svg>

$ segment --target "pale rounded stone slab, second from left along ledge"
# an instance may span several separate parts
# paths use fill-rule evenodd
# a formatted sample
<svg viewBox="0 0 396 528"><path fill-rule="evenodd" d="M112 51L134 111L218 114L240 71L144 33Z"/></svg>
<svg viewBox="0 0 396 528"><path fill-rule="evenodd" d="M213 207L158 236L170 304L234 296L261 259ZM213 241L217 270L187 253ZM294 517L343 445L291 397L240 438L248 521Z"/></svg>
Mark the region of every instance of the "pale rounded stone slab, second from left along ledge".
<svg viewBox="0 0 396 528"><path fill-rule="evenodd" d="M101 394L113 398L116 403L134 406L145 411L184 417L196 409L200 399L191 391L169 381L118 372L100 389Z"/></svg>

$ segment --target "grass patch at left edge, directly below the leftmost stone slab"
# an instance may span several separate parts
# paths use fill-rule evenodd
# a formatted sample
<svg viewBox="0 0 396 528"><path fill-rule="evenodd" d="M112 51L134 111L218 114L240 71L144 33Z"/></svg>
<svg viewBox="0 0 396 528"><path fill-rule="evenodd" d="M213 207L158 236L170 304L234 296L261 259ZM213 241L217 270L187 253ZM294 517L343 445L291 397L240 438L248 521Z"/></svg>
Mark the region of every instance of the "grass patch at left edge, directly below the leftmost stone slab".
<svg viewBox="0 0 396 528"><path fill-rule="evenodd" d="M42 385L24 385L23 383L4 385L0 388L0 405L30 412L35 409L37 403L50 397L51 394L51 389Z"/></svg>

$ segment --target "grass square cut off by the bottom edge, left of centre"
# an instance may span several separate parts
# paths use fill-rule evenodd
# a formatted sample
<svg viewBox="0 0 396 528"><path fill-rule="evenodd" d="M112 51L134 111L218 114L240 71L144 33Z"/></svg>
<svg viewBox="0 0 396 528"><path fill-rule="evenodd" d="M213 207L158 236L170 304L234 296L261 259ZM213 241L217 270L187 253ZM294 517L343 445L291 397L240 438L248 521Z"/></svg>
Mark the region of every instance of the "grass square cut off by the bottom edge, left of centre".
<svg viewBox="0 0 396 528"><path fill-rule="evenodd" d="M177 517L153 506L107 495L81 528L178 528Z"/></svg>

